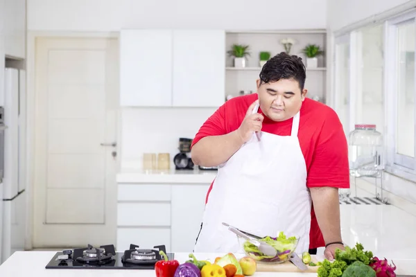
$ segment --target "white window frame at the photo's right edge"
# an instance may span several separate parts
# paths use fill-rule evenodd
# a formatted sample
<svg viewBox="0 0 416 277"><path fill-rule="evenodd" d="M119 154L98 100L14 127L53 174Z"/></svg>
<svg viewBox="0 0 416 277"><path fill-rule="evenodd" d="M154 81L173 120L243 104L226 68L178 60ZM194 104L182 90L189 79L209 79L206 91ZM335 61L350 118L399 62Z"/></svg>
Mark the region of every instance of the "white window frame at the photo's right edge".
<svg viewBox="0 0 416 277"><path fill-rule="evenodd" d="M415 157L397 154L397 26L413 21L416 24L416 12L408 12L385 21L384 32L384 97L385 97L385 171L410 181L416 181L416 145ZM415 35L416 42L416 35ZM416 44L415 44L416 45ZM416 47L415 47L416 52ZM386 70L389 69L389 70ZM415 62L415 88L416 88L416 62ZM416 91L414 98L416 102ZM414 112L416 125L416 109ZM415 140L416 141L416 126Z"/></svg>

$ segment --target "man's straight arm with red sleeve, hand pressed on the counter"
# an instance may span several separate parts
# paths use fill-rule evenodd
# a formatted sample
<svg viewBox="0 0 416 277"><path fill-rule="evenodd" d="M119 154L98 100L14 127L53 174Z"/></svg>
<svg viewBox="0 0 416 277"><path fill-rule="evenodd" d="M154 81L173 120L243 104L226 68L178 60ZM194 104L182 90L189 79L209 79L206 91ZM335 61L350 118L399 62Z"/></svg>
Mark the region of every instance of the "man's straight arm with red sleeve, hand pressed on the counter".
<svg viewBox="0 0 416 277"><path fill-rule="evenodd" d="M342 242L338 189L349 188L348 145L343 125L332 109L325 114L315 145L306 181L318 222L318 230L311 233L322 232L325 244ZM331 260L336 248L344 249L343 245L331 244L325 256Z"/></svg>

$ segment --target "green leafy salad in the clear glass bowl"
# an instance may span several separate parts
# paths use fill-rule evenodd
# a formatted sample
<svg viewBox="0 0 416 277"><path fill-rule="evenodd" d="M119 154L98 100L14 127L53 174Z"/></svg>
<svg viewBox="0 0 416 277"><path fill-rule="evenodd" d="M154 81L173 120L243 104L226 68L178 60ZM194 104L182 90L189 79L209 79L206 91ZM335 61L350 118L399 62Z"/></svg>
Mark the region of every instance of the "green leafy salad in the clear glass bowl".
<svg viewBox="0 0 416 277"><path fill-rule="evenodd" d="M259 239L259 241L266 242L277 250L276 256L266 256L259 251L257 246L252 244L249 241L245 241L243 244L244 250L248 255L250 255L254 260L261 260L263 262L279 262L285 261L288 259L288 255L293 252L297 246L297 238L290 237L286 238L283 232L279 233L277 238L272 238L270 236Z"/></svg>

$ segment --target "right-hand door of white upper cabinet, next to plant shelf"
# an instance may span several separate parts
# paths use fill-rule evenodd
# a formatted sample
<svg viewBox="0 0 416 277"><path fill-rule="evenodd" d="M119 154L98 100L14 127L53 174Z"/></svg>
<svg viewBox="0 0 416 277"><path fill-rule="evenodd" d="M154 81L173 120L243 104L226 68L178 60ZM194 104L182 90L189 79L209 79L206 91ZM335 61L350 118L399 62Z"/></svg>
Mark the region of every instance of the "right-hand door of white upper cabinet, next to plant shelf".
<svg viewBox="0 0 416 277"><path fill-rule="evenodd" d="M219 107L225 101L225 31L173 30L174 107Z"/></svg>

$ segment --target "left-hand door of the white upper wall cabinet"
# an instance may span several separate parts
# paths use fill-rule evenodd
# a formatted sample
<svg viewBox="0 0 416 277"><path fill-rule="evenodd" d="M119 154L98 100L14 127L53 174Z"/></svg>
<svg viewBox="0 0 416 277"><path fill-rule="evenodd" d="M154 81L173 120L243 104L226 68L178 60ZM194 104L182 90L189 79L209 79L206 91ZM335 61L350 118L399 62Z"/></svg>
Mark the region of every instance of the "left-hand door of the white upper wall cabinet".
<svg viewBox="0 0 416 277"><path fill-rule="evenodd" d="M121 30L120 105L172 104L172 30Z"/></svg>

